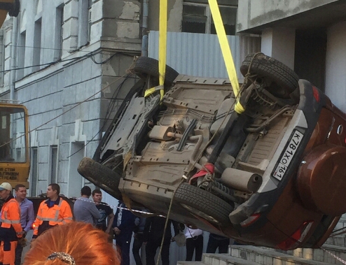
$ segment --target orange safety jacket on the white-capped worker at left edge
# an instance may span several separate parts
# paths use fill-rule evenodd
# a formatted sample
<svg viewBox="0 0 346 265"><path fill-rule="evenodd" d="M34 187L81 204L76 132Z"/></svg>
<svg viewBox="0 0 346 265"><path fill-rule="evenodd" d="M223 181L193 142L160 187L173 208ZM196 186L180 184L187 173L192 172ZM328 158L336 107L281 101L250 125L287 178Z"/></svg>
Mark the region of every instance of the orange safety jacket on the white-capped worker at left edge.
<svg viewBox="0 0 346 265"><path fill-rule="evenodd" d="M20 225L20 206L13 196L6 201L1 209L1 226L2 228L15 229L18 238L22 237L22 226Z"/></svg>

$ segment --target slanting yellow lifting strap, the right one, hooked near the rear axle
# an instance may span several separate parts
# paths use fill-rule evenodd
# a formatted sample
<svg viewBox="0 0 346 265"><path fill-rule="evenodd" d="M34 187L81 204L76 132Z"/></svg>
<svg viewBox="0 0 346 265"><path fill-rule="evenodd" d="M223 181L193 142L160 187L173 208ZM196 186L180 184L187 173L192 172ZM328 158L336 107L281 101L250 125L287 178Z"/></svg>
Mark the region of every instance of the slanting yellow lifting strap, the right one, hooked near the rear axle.
<svg viewBox="0 0 346 265"><path fill-rule="evenodd" d="M208 0L208 1L209 1L210 10L212 11L212 17L215 24L216 34L219 38L223 60L225 61L225 64L226 64L228 78L230 78L230 84L233 87L233 92L235 94L235 98L237 99L237 96L240 92L237 72L235 71L235 65L233 62L232 53L230 52L230 45L228 44L225 27L223 27L223 22L222 22L219 6L216 0ZM240 114L240 113L243 113L244 110L245 109L242 106L242 104L240 104L239 99L237 99L237 103L235 103L235 112Z"/></svg>

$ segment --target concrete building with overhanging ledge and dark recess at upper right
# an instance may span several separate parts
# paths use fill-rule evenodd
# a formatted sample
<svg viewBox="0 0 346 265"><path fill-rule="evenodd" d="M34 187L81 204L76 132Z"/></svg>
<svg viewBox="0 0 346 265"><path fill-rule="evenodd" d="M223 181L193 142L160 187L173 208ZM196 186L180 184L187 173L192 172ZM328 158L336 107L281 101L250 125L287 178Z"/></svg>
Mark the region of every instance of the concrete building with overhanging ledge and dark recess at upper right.
<svg viewBox="0 0 346 265"><path fill-rule="evenodd" d="M240 0L237 32L260 34L262 52L290 66L345 112L345 11L340 0Z"/></svg>

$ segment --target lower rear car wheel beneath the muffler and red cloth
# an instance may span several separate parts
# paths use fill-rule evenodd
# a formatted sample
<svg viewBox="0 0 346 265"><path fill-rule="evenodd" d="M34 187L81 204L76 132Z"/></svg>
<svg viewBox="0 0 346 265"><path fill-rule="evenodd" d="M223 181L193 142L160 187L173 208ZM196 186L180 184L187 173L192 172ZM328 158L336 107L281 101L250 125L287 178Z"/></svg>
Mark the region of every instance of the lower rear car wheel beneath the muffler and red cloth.
<svg viewBox="0 0 346 265"><path fill-rule="evenodd" d="M174 201L209 222L228 224L228 215L233 211L233 206L223 199L187 183L181 184L174 195Z"/></svg>

